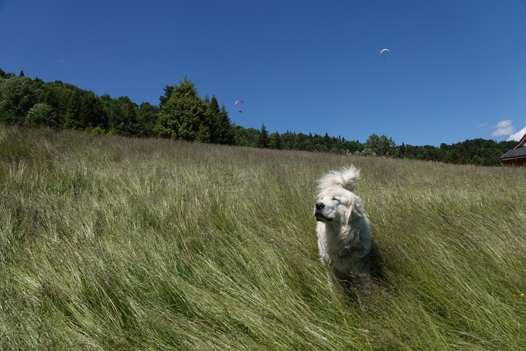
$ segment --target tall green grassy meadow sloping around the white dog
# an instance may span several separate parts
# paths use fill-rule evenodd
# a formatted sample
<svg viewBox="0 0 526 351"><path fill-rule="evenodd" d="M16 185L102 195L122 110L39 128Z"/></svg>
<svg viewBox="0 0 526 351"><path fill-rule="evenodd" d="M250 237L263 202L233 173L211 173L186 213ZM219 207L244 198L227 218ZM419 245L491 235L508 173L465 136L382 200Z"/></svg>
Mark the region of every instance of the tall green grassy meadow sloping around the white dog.
<svg viewBox="0 0 526 351"><path fill-rule="evenodd" d="M327 284L353 162L373 284ZM0 127L0 350L520 350L526 169Z"/></svg>

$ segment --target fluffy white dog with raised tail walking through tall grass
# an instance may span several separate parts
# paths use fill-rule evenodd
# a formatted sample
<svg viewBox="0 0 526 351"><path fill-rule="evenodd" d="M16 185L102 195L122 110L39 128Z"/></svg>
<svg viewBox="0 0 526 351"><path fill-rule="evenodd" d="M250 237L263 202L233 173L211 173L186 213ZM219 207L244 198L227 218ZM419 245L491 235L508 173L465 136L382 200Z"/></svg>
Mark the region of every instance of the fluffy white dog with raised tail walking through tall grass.
<svg viewBox="0 0 526 351"><path fill-rule="evenodd" d="M342 281L364 283L369 279L373 237L362 200L354 193L360 170L351 167L331 171L318 180L318 221L320 261ZM331 275L327 273L329 283Z"/></svg>

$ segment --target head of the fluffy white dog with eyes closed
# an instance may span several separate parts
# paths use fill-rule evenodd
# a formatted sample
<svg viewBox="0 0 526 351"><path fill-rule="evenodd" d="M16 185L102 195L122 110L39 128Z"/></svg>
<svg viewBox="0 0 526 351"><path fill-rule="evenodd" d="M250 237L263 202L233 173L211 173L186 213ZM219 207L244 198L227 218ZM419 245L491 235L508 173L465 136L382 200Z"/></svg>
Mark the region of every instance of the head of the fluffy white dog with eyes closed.
<svg viewBox="0 0 526 351"><path fill-rule="evenodd" d="M314 205L314 216L318 222L344 226L361 217L362 209L358 198L342 187L331 187L321 191Z"/></svg>

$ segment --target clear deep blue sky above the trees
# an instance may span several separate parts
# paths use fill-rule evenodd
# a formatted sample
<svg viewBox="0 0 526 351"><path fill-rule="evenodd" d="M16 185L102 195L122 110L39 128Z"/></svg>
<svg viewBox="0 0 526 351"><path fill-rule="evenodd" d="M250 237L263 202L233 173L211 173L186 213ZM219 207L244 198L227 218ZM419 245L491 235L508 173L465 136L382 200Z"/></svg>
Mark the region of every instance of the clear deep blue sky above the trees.
<svg viewBox="0 0 526 351"><path fill-rule="evenodd" d="M271 133L526 133L525 0L0 0L0 39L5 72L155 105L186 75Z"/></svg>

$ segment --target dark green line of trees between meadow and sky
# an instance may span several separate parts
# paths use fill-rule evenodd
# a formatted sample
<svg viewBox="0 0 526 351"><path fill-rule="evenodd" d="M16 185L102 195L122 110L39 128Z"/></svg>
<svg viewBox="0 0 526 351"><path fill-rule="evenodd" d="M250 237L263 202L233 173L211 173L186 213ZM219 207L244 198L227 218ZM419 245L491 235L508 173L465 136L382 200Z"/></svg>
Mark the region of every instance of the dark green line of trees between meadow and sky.
<svg viewBox="0 0 526 351"><path fill-rule="evenodd" d="M215 95L201 98L195 85L184 76L167 85L159 105L133 103L127 96L112 98L75 85L6 73L0 69L0 123L25 127L76 129L92 134L137 138L171 138L220 145L239 145L340 153L354 156L412 158L454 164L495 166L516 142L474 139L457 144L396 145L392 138L372 134L365 142L341 136L286 131L269 133L235 125L224 104Z"/></svg>

